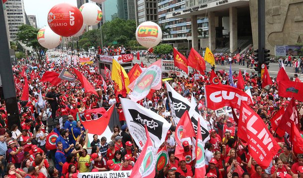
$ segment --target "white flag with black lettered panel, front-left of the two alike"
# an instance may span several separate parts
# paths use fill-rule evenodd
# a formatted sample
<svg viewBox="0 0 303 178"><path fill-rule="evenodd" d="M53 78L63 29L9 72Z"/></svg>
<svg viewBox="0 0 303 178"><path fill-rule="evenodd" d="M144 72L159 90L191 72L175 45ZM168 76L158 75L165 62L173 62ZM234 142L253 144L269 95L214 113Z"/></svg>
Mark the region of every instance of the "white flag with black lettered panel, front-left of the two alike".
<svg viewBox="0 0 303 178"><path fill-rule="evenodd" d="M142 150L147 141L144 125L148 128L155 148L158 148L165 141L171 124L162 116L130 99L121 98L120 100L128 129L139 149Z"/></svg>

